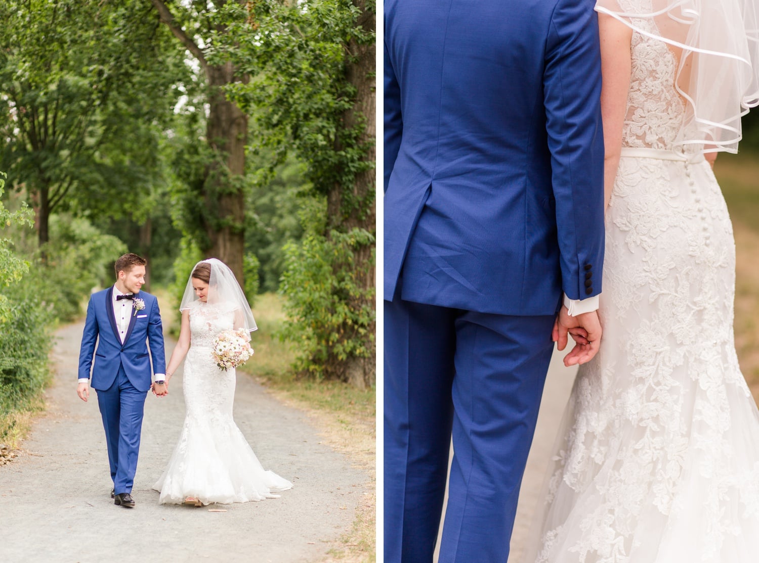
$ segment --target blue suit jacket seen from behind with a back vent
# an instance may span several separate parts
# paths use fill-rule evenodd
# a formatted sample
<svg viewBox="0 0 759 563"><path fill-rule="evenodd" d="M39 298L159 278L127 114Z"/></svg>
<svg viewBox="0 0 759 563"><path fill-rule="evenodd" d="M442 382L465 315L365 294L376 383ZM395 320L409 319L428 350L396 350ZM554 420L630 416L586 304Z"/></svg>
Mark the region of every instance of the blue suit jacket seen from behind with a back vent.
<svg viewBox="0 0 759 563"><path fill-rule="evenodd" d="M600 86L594 0L386 0L386 299L599 293Z"/></svg>

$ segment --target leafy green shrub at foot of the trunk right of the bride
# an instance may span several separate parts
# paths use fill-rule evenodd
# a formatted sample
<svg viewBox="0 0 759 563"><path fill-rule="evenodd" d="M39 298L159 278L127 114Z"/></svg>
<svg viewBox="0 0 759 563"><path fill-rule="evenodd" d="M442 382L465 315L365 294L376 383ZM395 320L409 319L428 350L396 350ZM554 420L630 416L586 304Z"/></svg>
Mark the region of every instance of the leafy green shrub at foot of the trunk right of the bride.
<svg viewBox="0 0 759 563"><path fill-rule="evenodd" d="M345 380L345 361L370 358L375 346L374 289L363 288L368 273L354 267L356 250L372 245L374 236L361 229L329 234L285 246L282 336L295 342L301 374Z"/></svg>

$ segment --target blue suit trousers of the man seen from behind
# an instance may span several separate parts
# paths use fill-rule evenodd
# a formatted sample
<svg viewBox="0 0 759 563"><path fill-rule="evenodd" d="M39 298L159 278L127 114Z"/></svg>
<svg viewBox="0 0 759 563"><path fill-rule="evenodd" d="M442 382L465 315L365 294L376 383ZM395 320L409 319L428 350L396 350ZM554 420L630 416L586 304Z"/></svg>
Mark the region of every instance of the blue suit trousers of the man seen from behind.
<svg viewBox="0 0 759 563"><path fill-rule="evenodd" d="M553 315L384 304L385 561L505 562Z"/></svg>

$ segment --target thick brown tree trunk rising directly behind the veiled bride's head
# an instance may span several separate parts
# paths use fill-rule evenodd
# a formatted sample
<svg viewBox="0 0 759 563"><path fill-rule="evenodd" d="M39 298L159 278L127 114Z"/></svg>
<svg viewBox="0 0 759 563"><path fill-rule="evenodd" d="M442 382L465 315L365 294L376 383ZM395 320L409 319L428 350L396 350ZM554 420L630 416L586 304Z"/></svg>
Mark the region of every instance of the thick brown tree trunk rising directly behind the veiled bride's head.
<svg viewBox="0 0 759 563"><path fill-rule="evenodd" d="M226 63L206 67L209 83L207 142L217 160L210 165L205 198L216 217L206 220L209 247L206 256L219 258L243 286L245 144L247 115L226 99L220 86L235 81L235 67Z"/></svg>

